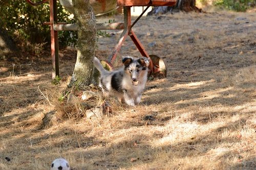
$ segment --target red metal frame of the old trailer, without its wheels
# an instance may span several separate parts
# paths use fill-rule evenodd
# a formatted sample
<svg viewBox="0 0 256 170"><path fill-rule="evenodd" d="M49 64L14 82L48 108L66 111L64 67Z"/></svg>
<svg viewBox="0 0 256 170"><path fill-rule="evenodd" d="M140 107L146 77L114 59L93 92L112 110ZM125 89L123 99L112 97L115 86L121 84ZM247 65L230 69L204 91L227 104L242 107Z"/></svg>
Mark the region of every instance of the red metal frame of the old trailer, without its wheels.
<svg viewBox="0 0 256 170"><path fill-rule="evenodd" d="M52 78L54 79L56 76L59 76L59 58L58 58L58 31L75 31L77 27L75 24L66 25L66 23L57 22L57 2L56 0L42 0L38 3L33 3L31 0L26 0L29 4L37 6L40 4L44 4L50 1L50 22L46 22L46 25L51 26L51 58L52 58ZM102 0L106 1L106 0ZM144 14L144 12L150 6L174 6L176 0L117 0L118 6L123 6L124 13L124 23L109 23L109 24L97 24L97 29L100 30L119 30L123 29L123 32L120 36L120 39L112 54L109 56L108 61L113 64L117 53L119 52L123 42L130 36L133 40L134 44L138 48L140 54L143 57L147 57L150 59L150 70L151 72L157 72L158 69L154 68L153 62L150 56L147 54L145 48L137 38L136 34L133 32L132 27L135 23L140 19L140 17ZM131 7L132 6L147 6L147 8L141 13L141 15L133 22L131 17Z"/></svg>

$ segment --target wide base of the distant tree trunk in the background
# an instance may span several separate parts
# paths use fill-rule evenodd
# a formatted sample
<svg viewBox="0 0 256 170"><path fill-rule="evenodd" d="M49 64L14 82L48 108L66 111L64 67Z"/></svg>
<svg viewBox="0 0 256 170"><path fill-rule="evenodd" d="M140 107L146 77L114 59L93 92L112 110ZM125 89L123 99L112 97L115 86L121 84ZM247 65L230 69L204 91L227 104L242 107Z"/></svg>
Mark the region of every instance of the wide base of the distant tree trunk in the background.
<svg viewBox="0 0 256 170"><path fill-rule="evenodd" d="M173 7L154 7L147 15L164 14L173 11L196 11L202 12L202 9L196 7L196 0L177 0L176 5Z"/></svg>

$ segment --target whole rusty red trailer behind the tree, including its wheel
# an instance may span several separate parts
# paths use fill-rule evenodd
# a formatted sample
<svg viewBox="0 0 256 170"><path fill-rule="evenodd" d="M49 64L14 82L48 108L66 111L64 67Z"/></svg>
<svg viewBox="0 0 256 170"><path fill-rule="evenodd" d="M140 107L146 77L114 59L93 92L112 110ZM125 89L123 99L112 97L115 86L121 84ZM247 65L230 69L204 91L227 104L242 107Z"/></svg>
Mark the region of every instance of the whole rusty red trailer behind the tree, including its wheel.
<svg viewBox="0 0 256 170"><path fill-rule="evenodd" d="M43 0L41 2L33 3L31 0L26 0L29 4L37 6L50 2L50 22L45 22L46 25L51 27L51 57L52 57L52 78L59 76L59 59L58 59L58 31L76 31L75 24L68 24L57 22L57 2L56 0ZM72 12L72 0L59 0L60 4ZM115 45L114 50L110 54L108 60L103 61L110 68L116 59L125 39L130 36L139 52L143 57L150 58L151 74L161 75L166 77L167 68L165 62L157 55L148 55L144 46L139 41L138 37L132 30L135 23L141 18L146 10L151 6L174 6L176 0L90 0L95 13L105 13L117 7L123 7L124 22L123 23L97 23L98 30L123 30L118 43ZM134 6L146 7L140 16L132 23L131 8ZM100 8L101 7L101 8Z"/></svg>

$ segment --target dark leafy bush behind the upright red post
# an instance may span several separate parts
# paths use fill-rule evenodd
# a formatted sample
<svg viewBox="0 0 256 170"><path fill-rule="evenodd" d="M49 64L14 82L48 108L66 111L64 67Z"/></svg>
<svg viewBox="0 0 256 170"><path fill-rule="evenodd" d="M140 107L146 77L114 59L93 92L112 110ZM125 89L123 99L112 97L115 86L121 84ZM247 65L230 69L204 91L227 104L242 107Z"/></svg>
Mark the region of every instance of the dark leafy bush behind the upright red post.
<svg viewBox="0 0 256 170"><path fill-rule="evenodd" d="M50 21L49 3L32 6L26 1L0 0L0 4L1 29L7 30L21 42L50 44L50 27L42 25L45 21ZM57 5L58 21L74 23L74 18L69 17L70 13L59 3ZM72 45L76 38L77 34L74 32L59 32L60 45Z"/></svg>

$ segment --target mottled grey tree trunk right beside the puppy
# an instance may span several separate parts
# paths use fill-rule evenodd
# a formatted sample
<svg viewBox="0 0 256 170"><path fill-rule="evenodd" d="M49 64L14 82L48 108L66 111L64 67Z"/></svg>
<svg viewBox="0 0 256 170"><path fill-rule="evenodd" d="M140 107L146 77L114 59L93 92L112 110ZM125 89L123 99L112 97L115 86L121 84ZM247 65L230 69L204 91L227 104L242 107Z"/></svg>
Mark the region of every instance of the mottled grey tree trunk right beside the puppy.
<svg viewBox="0 0 256 170"><path fill-rule="evenodd" d="M88 86L93 80L96 48L96 18L89 0L73 0L74 15L78 28L76 64L68 87Z"/></svg>

